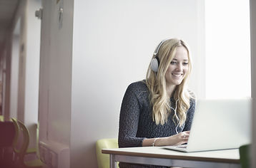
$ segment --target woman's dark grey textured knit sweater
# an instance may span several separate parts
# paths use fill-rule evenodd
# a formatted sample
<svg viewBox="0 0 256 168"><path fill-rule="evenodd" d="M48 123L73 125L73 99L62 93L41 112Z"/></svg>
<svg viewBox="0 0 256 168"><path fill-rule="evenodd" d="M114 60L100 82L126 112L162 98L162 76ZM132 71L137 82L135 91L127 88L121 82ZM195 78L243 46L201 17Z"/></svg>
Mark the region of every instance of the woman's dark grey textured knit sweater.
<svg viewBox="0 0 256 168"><path fill-rule="evenodd" d="M175 107L174 99L170 99L171 106ZM187 111L187 120L178 127L178 132L190 130L195 112L195 100L190 100ZM119 116L119 147L142 147L145 138L169 137L175 135L176 125L172 121L174 112L168 117L164 125L156 125L152 120L152 106L149 103L149 89L144 81L132 83L128 86ZM138 164L120 163L119 167L152 167Z"/></svg>

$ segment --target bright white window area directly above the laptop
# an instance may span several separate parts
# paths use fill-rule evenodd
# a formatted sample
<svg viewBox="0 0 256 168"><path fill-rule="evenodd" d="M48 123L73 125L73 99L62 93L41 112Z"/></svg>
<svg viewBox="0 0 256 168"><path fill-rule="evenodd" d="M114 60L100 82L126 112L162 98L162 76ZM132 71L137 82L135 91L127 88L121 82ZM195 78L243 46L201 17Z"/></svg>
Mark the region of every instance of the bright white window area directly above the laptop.
<svg viewBox="0 0 256 168"><path fill-rule="evenodd" d="M206 98L251 96L250 1L206 0Z"/></svg>

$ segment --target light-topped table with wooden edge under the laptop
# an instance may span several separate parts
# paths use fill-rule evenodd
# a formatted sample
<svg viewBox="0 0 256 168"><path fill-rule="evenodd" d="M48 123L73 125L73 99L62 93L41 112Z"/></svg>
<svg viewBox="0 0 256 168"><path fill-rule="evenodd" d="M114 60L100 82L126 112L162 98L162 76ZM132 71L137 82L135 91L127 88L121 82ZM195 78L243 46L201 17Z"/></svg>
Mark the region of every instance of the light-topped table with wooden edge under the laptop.
<svg viewBox="0 0 256 168"><path fill-rule="evenodd" d="M167 167L241 167L239 149L186 153L164 147L129 147L102 149L102 153L110 154L111 168L116 168L117 162Z"/></svg>

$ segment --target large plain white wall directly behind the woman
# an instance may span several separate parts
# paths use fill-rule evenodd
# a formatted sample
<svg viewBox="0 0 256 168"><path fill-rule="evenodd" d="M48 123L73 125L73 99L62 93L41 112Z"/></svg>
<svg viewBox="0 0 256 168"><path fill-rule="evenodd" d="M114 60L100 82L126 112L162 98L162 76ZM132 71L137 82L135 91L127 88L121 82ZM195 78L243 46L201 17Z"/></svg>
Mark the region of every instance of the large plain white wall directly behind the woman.
<svg viewBox="0 0 256 168"><path fill-rule="evenodd" d="M162 39L189 43L190 88L203 97L203 11L196 0L74 1L71 167L97 167L95 142L117 138L124 92L145 78Z"/></svg>

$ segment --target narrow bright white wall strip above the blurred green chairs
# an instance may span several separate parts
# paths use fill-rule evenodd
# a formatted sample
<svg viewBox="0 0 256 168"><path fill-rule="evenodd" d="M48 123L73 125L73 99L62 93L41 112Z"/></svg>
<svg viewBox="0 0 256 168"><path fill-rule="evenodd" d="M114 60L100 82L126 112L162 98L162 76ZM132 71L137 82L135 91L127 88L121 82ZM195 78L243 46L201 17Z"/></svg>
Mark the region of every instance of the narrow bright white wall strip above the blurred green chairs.
<svg viewBox="0 0 256 168"><path fill-rule="evenodd" d="M31 134L30 145L36 143L36 127L38 121L39 103L39 58L41 20L34 15L41 7L41 0L29 0L26 6L26 70L25 70L25 97L24 123ZM33 135L33 136L32 136Z"/></svg>

